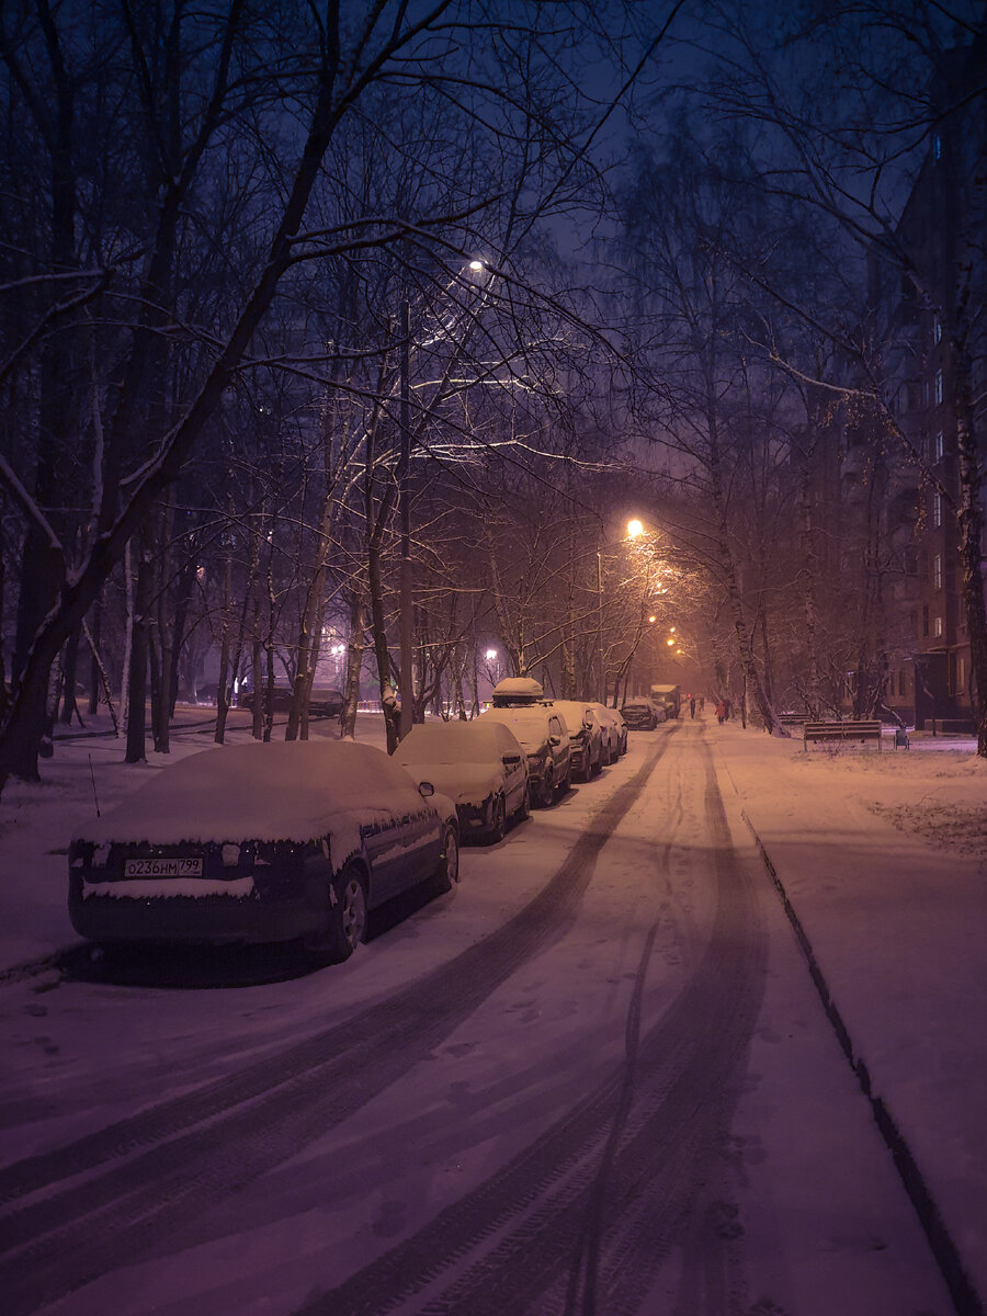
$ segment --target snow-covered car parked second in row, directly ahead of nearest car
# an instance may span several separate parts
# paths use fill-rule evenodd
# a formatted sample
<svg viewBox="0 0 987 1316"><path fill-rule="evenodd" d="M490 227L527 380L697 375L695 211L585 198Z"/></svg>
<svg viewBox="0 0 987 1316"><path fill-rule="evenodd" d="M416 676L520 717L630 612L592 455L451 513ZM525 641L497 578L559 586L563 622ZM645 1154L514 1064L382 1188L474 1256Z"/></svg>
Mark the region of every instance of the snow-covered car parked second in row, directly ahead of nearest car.
<svg viewBox="0 0 987 1316"><path fill-rule="evenodd" d="M526 819L532 811L528 757L503 722L476 719L413 726L393 761L455 803L463 841L503 841L507 820Z"/></svg>

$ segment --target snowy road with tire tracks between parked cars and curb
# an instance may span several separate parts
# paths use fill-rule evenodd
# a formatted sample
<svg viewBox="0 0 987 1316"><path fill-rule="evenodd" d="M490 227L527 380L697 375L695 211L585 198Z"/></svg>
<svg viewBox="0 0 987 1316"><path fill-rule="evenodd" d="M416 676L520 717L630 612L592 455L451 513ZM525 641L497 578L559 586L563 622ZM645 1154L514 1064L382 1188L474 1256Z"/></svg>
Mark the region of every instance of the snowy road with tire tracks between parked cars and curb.
<svg viewBox="0 0 987 1316"><path fill-rule="evenodd" d="M11 1316L951 1311L703 722L343 966L0 1008Z"/></svg>

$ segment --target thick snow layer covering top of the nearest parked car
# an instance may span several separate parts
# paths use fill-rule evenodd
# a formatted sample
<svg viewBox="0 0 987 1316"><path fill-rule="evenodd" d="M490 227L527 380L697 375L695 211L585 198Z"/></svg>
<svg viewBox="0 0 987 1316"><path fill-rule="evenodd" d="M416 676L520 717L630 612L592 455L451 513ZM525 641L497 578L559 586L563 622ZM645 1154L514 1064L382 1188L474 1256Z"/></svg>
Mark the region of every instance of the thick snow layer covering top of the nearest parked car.
<svg viewBox="0 0 987 1316"><path fill-rule="evenodd" d="M224 745L163 769L76 838L178 845L183 841L308 841L421 807L404 769L371 745L278 741Z"/></svg>

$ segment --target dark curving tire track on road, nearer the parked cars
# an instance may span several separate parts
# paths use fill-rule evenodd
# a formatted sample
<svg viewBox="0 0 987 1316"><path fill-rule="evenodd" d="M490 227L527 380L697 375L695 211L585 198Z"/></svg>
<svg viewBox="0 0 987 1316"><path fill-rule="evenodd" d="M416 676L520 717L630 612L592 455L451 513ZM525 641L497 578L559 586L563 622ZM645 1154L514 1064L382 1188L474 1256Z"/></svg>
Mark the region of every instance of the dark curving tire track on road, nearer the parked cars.
<svg viewBox="0 0 987 1316"><path fill-rule="evenodd" d="M361 1015L245 1070L0 1171L0 1291L36 1311L154 1253L217 1198L295 1155L438 1046L503 982L561 936L596 857L670 744L592 817L541 892L454 959Z"/></svg>

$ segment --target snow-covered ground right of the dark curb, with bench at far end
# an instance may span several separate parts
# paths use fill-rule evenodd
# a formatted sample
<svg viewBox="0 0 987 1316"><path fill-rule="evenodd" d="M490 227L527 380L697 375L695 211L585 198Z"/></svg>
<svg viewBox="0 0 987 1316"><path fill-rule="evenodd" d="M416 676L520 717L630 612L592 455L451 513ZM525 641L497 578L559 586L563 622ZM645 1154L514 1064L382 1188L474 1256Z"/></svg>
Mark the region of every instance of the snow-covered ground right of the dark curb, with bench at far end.
<svg viewBox="0 0 987 1316"><path fill-rule="evenodd" d="M954 1248L955 1283L983 1303L987 762L973 742L807 751L712 720L707 734L884 1133L903 1138L899 1166L930 1194L933 1236L941 1216L940 1261Z"/></svg>

